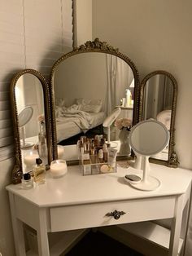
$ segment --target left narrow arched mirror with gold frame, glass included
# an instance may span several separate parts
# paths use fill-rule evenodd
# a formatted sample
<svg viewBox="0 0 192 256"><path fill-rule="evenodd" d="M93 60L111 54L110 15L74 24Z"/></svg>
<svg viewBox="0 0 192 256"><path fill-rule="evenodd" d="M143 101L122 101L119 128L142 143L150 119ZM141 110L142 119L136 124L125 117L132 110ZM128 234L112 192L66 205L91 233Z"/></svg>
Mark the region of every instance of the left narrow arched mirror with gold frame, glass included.
<svg viewBox="0 0 192 256"><path fill-rule="evenodd" d="M16 73L11 82L11 108L15 138L15 168L12 183L33 170L36 158L51 161L49 87L45 77L33 69Z"/></svg>

